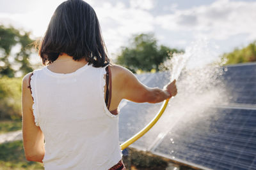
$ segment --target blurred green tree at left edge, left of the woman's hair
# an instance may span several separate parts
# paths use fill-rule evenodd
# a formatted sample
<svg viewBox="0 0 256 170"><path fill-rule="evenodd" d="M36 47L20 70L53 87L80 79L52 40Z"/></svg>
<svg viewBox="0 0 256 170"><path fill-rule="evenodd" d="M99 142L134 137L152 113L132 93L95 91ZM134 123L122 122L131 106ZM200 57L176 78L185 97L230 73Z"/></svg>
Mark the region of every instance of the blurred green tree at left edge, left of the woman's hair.
<svg viewBox="0 0 256 170"><path fill-rule="evenodd" d="M33 71L28 60L34 49L31 45L33 40L29 36L30 32L0 25L0 77L4 75L14 77L18 70L13 69L13 66L18 66L22 75ZM16 53L12 53L14 46L20 46L20 50Z"/></svg>

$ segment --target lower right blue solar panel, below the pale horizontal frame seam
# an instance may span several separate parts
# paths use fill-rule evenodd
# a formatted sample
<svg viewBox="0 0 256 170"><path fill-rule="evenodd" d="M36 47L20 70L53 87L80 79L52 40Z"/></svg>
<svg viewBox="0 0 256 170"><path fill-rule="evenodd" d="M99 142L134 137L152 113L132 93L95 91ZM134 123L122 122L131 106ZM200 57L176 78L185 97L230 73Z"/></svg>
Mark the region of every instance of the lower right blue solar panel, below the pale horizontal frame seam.
<svg viewBox="0 0 256 170"><path fill-rule="evenodd" d="M211 124L209 129L205 131L197 129L196 124L193 127L190 125L183 129L173 129L157 147L156 152L170 155L172 150L175 150L171 154L173 157L212 169L225 169L232 166L248 169L256 157L256 141L248 140L255 138L256 124L254 128L246 129L243 127L244 124L234 127L232 122L237 120L246 122L251 114L256 114L256 110L243 112L243 110L218 109L218 121L214 124L211 124L211 120L204 122L205 127ZM227 125L225 120L230 115L234 118L231 118ZM239 115L243 116L239 117ZM183 138L175 139L173 134L176 133L183 134ZM245 136L244 133L246 133ZM170 143L170 138L177 142ZM209 160L214 161L214 165L211 165Z"/></svg>

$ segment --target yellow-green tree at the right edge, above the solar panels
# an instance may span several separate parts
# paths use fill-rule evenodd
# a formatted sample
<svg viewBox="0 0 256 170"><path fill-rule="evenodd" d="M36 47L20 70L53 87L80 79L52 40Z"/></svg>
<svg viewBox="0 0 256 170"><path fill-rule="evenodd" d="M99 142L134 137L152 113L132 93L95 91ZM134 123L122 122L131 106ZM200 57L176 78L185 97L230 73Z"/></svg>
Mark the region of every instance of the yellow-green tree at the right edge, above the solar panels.
<svg viewBox="0 0 256 170"><path fill-rule="evenodd" d="M242 62L256 61L256 41L250 43L248 46L239 49L235 48L233 52L224 53L223 59L226 59L226 64L237 64Z"/></svg>

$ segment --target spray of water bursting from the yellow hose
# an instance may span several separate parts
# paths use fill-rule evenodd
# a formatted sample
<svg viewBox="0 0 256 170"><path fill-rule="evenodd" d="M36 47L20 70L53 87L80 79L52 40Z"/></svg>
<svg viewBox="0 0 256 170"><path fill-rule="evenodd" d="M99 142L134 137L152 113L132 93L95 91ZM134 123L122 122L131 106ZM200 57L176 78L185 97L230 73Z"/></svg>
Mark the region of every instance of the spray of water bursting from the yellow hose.
<svg viewBox="0 0 256 170"><path fill-rule="evenodd" d="M217 50L218 46L200 39L191 43L185 53L174 54L171 60L164 62L164 67L171 70L171 80L179 79L177 81L179 92L169 102L159 124L146 136L152 138L152 134L159 134L157 138L154 137L155 140L147 150L154 152L167 134L172 136L174 131L184 131L189 124L201 124L205 117L216 116L212 115L212 111L208 113L207 109L227 99L225 97L227 91L221 79L223 74L221 59ZM207 131L207 127L202 128ZM170 138L166 147L174 145L177 138ZM174 153L175 150L170 154Z"/></svg>

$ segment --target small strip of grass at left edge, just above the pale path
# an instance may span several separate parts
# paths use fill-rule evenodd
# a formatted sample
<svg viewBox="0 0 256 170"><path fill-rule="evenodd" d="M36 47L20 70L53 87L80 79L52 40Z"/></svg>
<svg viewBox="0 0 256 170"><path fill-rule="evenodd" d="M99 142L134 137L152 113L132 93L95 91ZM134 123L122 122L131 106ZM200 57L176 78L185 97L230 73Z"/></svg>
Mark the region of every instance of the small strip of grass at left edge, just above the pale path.
<svg viewBox="0 0 256 170"><path fill-rule="evenodd" d="M17 120L1 120L0 121L0 134L12 131L18 131L22 127L21 121Z"/></svg>

